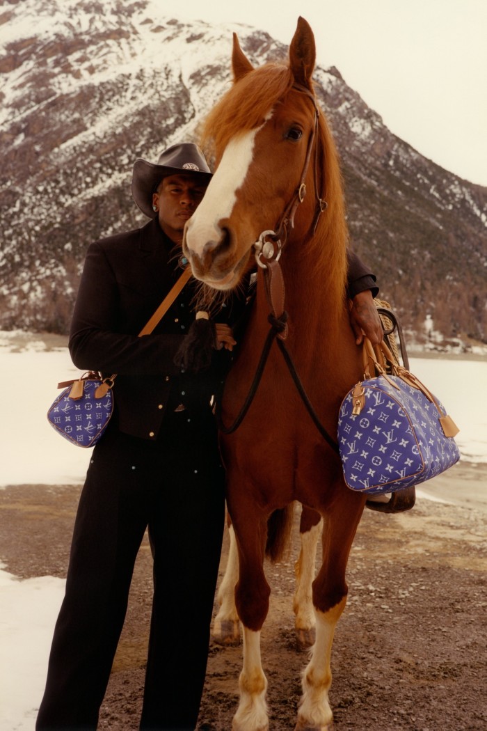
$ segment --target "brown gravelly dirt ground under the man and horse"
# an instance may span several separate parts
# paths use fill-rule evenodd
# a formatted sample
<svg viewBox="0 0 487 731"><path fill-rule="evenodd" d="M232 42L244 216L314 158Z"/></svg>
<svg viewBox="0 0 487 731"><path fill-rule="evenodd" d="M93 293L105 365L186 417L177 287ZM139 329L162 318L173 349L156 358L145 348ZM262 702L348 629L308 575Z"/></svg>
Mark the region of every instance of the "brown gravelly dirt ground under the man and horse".
<svg viewBox="0 0 487 731"><path fill-rule="evenodd" d="M487 469L459 464L425 485L412 511L370 510L348 567L349 599L334 641L331 705L337 730L487 728ZM0 491L0 558L18 577L64 577L79 486ZM226 559L226 537L222 567ZM271 610L262 632L271 731L294 728L300 672L289 561L266 568ZM138 728L150 617L151 558L137 559L129 612L100 731ZM237 707L241 648L212 643L199 731L228 731Z"/></svg>

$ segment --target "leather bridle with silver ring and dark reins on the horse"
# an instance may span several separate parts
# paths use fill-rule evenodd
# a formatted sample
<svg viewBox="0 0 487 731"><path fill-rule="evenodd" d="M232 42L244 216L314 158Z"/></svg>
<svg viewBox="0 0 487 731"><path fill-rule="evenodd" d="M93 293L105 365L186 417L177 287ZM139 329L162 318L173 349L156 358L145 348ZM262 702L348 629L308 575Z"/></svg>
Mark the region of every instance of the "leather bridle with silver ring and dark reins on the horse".
<svg viewBox="0 0 487 731"><path fill-rule="evenodd" d="M291 374L291 377L294 381L294 385L296 386L296 389L298 390L299 395L302 398L303 404L307 409L307 412L310 414L310 417L312 419L312 422L315 424L316 428L318 428L318 431L321 433L321 436L323 436L323 439L326 440L326 442L329 444L332 450L334 452L339 453L339 448L337 442L329 435L329 433L324 428L323 424L318 418L318 415L315 412L315 409L313 409L313 406L311 404L310 398L308 397L306 390L304 390L304 386L302 385L302 381L299 378L299 375L296 371L296 367L294 366L294 362L291 358L291 355L288 352L287 347L285 346L285 338L288 336L288 325L287 325L287 319L288 319L288 313L285 311L284 303L285 303L285 286L284 286L284 278L283 278L283 271L280 268L279 259L280 254L283 249L283 246L287 240L287 234L288 234L288 227L294 228L294 215L296 213L296 210L300 203L303 202L304 196L306 195L306 185L304 183L308 168L310 166L311 161L311 155L312 150L315 148L315 196L316 196L316 211L315 216L312 221L312 235L315 234L316 227L318 225L318 219L321 216L321 213L325 211L326 209L326 201L323 200L319 194L318 194L318 145L315 144L315 137L316 133L318 131L318 118L319 118L319 110L318 105L316 104L315 97L313 96L312 92L307 89L304 86L294 85L292 88L296 89L296 91L301 92L302 94L306 94L312 101L313 106L315 107L315 124L313 126L312 132L310 134L310 139L308 140L307 145L307 153L306 158L304 160L304 166L302 170L302 175L299 180L299 185L296 188L296 191L294 192L293 197L291 198L290 202L286 206L279 223L277 224L277 228L275 231L272 230L266 230L261 233L261 235L258 237L258 240L254 244L254 249L256 250L256 262L260 268L264 270L264 284L265 284L265 290L266 290L266 296L267 300L269 302L270 306L270 313L268 316L269 320L269 333L267 333L266 340L264 341L264 346L261 352L261 357L258 361L258 365L256 368L256 374L253 377L253 381L250 385L250 389L248 392L247 397L245 398L244 404L242 405L242 408L240 409L239 413L237 414L237 417L235 418L234 422L231 423L230 426L225 426L223 424L223 421L221 419L221 401L217 401L216 406L216 416L218 419L218 428L220 431L224 434L231 434L239 427L239 425L242 423L242 421L245 418L245 415L248 412L248 409L250 409L250 405L253 402L253 398L256 395L256 391L258 388L258 385L261 381L262 374L264 373L264 368L266 366L267 358L269 357L269 352L272 346L272 343L274 341L277 342L277 346L279 346L280 352L282 352L285 364L288 366L288 371ZM283 243L281 243L281 239L283 240Z"/></svg>

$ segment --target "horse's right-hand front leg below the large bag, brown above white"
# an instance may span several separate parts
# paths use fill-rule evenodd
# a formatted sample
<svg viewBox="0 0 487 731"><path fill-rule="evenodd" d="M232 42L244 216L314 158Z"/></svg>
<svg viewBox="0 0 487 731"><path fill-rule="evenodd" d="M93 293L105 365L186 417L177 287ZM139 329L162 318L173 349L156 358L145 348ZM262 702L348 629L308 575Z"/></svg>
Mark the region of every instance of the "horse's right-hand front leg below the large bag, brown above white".
<svg viewBox="0 0 487 731"><path fill-rule="evenodd" d="M295 731L329 731L333 714L328 700L331 686L331 645L335 627L347 603L345 570L364 499L340 492L323 526L323 564L312 584L316 641L303 673L303 695Z"/></svg>

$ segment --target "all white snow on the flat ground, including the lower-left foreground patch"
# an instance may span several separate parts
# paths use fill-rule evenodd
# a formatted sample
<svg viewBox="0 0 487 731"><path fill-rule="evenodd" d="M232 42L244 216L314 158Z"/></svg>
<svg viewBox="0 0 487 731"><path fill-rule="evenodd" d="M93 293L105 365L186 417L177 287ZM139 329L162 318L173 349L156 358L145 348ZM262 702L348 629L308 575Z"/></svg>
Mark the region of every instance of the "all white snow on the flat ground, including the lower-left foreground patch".
<svg viewBox="0 0 487 731"><path fill-rule="evenodd" d="M487 475L487 415L482 398L486 358L410 354L410 367L459 425L456 441L461 450L461 474L468 477L465 482L472 488L482 491ZM46 419L58 381L77 374L60 336L0 333L5 414L0 426L0 489L9 486L15 491L26 484L50 489L83 482L90 450L61 439ZM442 499L433 486L429 489L428 483L425 485L418 491L418 501ZM462 492L455 488L452 494L461 496ZM2 567L0 556L0 731L32 731L64 580L50 576L19 580Z"/></svg>

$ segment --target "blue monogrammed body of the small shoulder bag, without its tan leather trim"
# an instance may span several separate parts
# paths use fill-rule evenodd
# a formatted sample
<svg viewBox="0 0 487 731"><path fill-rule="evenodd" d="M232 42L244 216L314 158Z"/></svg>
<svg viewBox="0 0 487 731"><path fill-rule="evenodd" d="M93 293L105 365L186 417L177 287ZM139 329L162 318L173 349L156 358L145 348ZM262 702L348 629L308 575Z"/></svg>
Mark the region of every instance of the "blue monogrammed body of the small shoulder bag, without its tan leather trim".
<svg viewBox="0 0 487 731"><path fill-rule="evenodd" d="M99 441L113 411L112 390L103 398L95 398L101 381L83 381L82 398L69 398L71 386L66 388L47 412L47 419L61 436L78 447L93 447Z"/></svg>

